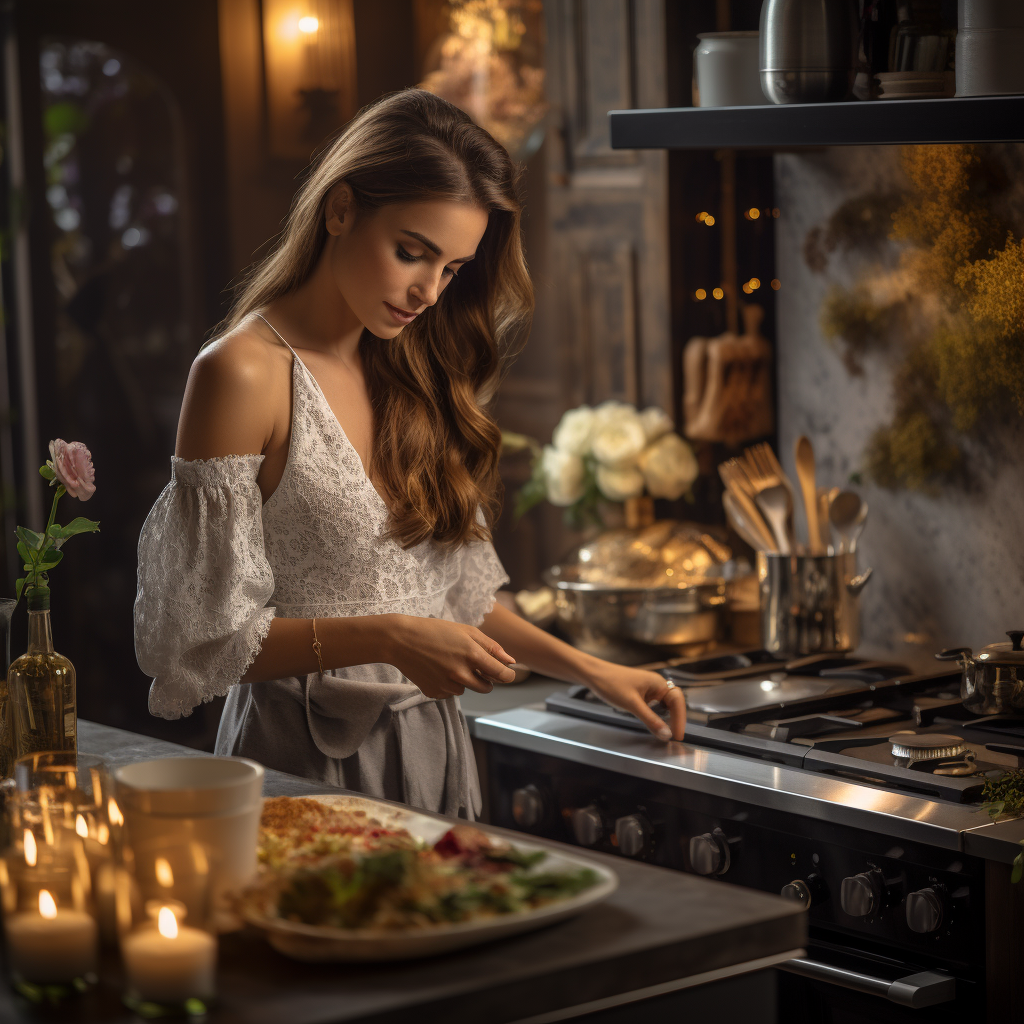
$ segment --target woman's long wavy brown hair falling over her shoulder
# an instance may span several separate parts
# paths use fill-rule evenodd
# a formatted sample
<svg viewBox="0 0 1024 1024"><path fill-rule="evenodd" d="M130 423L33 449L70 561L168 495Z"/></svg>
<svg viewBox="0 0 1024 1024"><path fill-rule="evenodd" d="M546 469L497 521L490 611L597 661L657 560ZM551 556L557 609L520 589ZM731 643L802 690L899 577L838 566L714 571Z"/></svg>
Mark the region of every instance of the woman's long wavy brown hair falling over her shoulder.
<svg viewBox="0 0 1024 1024"><path fill-rule="evenodd" d="M534 307L518 171L505 148L447 100L421 89L385 96L325 150L273 251L243 282L223 330L310 276L327 242L328 194L342 180L360 213L430 200L488 211L476 259L433 306L390 341L369 331L359 338L374 417L370 471L390 511L389 536L407 548L430 538L450 547L485 539L501 500L501 432L485 406Z"/></svg>

